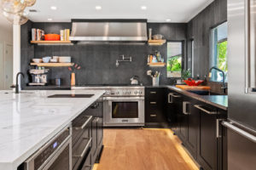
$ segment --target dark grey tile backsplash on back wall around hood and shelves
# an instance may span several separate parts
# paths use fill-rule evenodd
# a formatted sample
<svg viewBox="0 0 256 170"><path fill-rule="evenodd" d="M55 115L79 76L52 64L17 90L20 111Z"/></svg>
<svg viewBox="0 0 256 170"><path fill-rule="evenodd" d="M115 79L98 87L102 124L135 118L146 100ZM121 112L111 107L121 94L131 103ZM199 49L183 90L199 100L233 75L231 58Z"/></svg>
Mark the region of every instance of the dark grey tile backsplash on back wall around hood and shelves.
<svg viewBox="0 0 256 170"><path fill-rule="evenodd" d="M166 44L161 47L151 47L147 44L74 44L73 46L39 46L29 43L31 40L31 29L43 29L46 33L59 33L61 29L70 28L71 23L33 23L29 21L21 26L21 71L29 70L32 58L44 56L72 56L72 62L81 65L82 69L77 71L76 84L128 84L130 78L138 76L140 83L151 85L151 77L146 75L148 70L161 72L160 84L172 84L173 79L166 78L165 68L150 68L147 65L148 54L155 50L160 51L166 59ZM153 33L162 34L169 41L186 41L187 24L159 24L148 23L148 28L153 28ZM186 47L186 46L184 46ZM185 51L185 50L184 50ZM116 67L116 59L121 54L132 57L132 62L122 62ZM26 76L26 83L29 75ZM63 85L70 84L70 72L67 67L50 68L49 79L61 78ZM23 86L25 83L23 83Z"/></svg>

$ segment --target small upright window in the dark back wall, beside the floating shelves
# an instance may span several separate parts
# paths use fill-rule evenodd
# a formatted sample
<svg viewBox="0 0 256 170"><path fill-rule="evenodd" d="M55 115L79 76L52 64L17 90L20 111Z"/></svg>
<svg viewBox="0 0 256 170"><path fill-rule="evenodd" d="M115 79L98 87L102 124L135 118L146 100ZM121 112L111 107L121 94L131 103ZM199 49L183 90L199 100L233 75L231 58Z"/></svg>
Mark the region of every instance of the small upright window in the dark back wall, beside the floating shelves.
<svg viewBox="0 0 256 170"><path fill-rule="evenodd" d="M181 77L183 42L167 42L167 77Z"/></svg>

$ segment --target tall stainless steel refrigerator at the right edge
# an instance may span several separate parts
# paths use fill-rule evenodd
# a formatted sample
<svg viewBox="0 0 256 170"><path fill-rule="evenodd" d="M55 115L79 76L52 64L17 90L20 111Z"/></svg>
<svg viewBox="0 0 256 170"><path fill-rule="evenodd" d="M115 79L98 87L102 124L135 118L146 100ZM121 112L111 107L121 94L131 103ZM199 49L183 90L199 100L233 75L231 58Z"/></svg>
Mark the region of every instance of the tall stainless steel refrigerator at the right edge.
<svg viewBox="0 0 256 170"><path fill-rule="evenodd" d="M228 0L228 169L256 161L256 0Z"/></svg>

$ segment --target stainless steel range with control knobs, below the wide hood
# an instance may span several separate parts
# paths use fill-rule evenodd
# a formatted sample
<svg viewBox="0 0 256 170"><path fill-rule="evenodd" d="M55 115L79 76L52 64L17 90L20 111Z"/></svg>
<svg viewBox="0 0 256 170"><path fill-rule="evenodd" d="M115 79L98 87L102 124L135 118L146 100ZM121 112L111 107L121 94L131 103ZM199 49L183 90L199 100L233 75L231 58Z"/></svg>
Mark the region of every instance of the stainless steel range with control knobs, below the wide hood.
<svg viewBox="0 0 256 170"><path fill-rule="evenodd" d="M104 127L143 127L145 125L145 88L143 86L75 87L104 89Z"/></svg>

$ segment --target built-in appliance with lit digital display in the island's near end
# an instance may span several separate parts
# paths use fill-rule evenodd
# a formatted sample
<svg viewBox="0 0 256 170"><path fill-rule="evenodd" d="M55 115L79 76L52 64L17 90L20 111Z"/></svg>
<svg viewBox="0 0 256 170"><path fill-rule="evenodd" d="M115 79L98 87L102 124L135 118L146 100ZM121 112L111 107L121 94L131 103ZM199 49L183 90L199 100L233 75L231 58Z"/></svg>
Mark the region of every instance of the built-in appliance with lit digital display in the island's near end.
<svg viewBox="0 0 256 170"><path fill-rule="evenodd" d="M55 138L24 162L24 170L72 170L72 127L61 130Z"/></svg>

